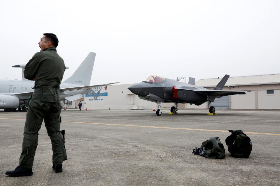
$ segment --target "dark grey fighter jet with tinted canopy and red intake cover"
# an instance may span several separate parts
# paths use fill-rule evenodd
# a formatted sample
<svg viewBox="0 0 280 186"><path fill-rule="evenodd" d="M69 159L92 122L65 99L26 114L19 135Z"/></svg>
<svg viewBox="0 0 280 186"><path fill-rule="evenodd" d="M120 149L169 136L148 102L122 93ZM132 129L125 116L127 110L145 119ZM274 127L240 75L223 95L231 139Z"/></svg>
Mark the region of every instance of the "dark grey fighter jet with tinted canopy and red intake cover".
<svg viewBox="0 0 280 186"><path fill-rule="evenodd" d="M149 76L146 80L132 85L128 89L138 95L140 99L157 103L157 116L162 114L161 103L175 103L175 107L171 107L170 112L176 113L178 103L201 105L207 101L209 112L215 115L216 109L211 106L211 102L214 102L216 98L234 94L246 94L245 92L248 92L222 91L229 77L229 75L225 75L213 90L196 86L194 78L190 78L189 83L183 83L156 75Z"/></svg>

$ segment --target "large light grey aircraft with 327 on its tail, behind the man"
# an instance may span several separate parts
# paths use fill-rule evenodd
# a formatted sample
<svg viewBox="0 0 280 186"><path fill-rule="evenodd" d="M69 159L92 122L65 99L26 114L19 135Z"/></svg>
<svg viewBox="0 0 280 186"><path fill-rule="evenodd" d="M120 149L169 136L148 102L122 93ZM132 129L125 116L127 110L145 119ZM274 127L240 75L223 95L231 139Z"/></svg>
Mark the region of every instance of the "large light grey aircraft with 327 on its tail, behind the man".
<svg viewBox="0 0 280 186"><path fill-rule="evenodd" d="M90 85L92 69L96 53L90 52L78 69L67 80L60 84L60 100L74 101L82 98L83 94L90 93L93 87L103 85ZM16 111L19 105L26 104L29 96L33 94L35 81L24 78L25 65L15 65L22 68L22 80L0 79L0 108L5 111ZM110 85L108 83L104 85Z"/></svg>

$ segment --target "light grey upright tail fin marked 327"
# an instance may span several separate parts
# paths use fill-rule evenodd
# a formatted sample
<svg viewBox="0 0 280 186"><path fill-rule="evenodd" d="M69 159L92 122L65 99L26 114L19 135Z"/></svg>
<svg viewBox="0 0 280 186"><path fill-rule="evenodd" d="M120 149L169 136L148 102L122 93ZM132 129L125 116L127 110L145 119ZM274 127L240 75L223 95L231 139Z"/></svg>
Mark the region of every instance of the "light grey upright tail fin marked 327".
<svg viewBox="0 0 280 186"><path fill-rule="evenodd" d="M90 79L92 75L92 69L94 65L96 53L90 52L88 56L83 60L78 69L63 83L72 83L78 85L90 85Z"/></svg>

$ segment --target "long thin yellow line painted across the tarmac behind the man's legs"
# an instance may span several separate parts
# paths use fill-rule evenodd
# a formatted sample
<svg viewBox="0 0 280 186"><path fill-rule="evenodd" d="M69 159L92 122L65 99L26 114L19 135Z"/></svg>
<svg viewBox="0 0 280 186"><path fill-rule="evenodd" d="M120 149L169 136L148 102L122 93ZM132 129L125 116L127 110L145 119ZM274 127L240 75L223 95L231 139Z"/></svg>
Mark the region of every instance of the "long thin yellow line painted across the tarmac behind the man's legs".
<svg viewBox="0 0 280 186"><path fill-rule="evenodd" d="M13 119L13 118L0 118L0 119L10 119L10 120L24 120L25 119ZM178 130L200 130L200 131L211 131L211 132L226 132L227 130L209 130L209 129L197 129L197 128L177 128L177 127L157 127L157 126L144 126L144 125L125 125L125 124L106 124L106 123L90 123L90 122L78 122L78 121L62 121L62 123L80 123L80 124L95 124L95 125L111 125L111 126L129 126L129 127L146 127L146 128L163 128L163 129L178 129ZM244 132L247 134L264 134L264 135L280 135L273 133L255 133L255 132Z"/></svg>

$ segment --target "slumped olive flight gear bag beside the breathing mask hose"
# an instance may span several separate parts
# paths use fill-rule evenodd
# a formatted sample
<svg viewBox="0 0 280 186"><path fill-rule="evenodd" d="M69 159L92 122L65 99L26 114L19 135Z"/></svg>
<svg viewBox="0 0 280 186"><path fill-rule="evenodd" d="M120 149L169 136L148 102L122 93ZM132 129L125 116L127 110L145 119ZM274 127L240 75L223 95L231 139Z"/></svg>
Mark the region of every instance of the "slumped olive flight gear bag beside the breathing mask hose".
<svg viewBox="0 0 280 186"><path fill-rule="evenodd" d="M223 159L225 158L224 145L221 143L219 137L210 137L202 143L200 149L203 149L205 158Z"/></svg>

